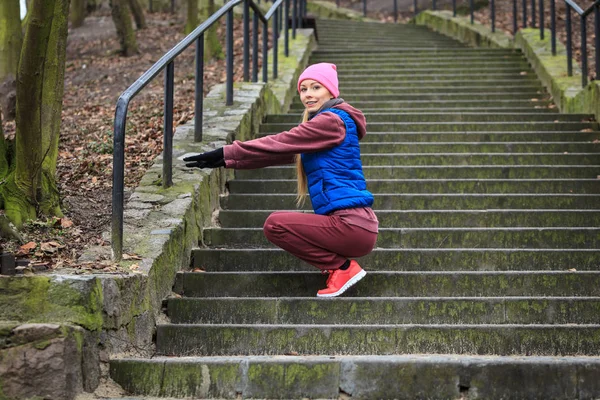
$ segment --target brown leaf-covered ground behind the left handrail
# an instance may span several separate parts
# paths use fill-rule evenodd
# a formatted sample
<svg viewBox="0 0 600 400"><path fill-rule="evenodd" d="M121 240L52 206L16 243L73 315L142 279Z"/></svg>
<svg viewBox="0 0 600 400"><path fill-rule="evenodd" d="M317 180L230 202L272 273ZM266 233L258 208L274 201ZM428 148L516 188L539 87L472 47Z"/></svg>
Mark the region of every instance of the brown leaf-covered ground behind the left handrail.
<svg viewBox="0 0 600 400"><path fill-rule="evenodd" d="M184 38L184 20L173 14L147 14L148 28L137 32L140 53L120 57L110 14L96 12L81 28L70 29L65 93L58 156L63 218L38 220L22 230L24 243L3 243L4 251L29 260L25 272L62 269L75 273L116 272L109 260L80 262L89 246L109 245L112 190L112 131L119 95L162 55ZM236 19L235 80L242 80L241 23ZM224 43L224 21L218 28ZM269 35L270 36L270 35ZM259 36L260 37L260 36ZM192 46L175 62L174 125L193 118L194 57ZM259 58L260 63L260 58ZM224 60L205 61L204 94L225 81ZM159 75L131 102L126 130L126 188L135 188L163 142L163 76ZM4 121L14 137L14 122ZM135 258L135 256L131 256Z"/></svg>

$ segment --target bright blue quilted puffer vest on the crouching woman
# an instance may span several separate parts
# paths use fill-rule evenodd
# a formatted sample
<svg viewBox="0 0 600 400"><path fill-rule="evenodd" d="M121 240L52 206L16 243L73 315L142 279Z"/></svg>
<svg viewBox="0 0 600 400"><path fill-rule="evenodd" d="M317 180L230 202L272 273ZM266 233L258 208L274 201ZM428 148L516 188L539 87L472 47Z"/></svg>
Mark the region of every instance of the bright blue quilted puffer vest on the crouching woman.
<svg viewBox="0 0 600 400"><path fill-rule="evenodd" d="M373 205L373 195L367 190L362 171L356 123L347 112L336 108L321 112L338 115L346 125L346 137L332 149L302 154L302 165L315 214L325 215L344 208L370 207Z"/></svg>

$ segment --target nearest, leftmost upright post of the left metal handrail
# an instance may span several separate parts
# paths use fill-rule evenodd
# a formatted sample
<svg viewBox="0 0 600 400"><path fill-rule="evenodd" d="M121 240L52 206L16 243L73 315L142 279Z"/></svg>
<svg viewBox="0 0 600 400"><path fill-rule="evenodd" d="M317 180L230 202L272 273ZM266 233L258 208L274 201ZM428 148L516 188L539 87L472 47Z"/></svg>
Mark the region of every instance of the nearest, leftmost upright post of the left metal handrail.
<svg viewBox="0 0 600 400"><path fill-rule="evenodd" d="M115 111L113 133L113 191L111 218L111 248L113 261L123 256L123 199L125 186L125 124L127 101L119 98Z"/></svg>

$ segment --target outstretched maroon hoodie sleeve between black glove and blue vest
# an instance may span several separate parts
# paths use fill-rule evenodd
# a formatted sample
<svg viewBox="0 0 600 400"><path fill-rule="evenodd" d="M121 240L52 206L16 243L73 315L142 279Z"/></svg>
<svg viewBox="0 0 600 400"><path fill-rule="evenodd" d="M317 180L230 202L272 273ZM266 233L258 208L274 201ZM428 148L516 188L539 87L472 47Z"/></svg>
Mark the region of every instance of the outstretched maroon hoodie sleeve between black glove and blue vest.
<svg viewBox="0 0 600 400"><path fill-rule="evenodd" d="M226 168L254 169L292 164L296 154L327 150L344 141L346 127L337 115L324 112L276 135L223 147Z"/></svg>

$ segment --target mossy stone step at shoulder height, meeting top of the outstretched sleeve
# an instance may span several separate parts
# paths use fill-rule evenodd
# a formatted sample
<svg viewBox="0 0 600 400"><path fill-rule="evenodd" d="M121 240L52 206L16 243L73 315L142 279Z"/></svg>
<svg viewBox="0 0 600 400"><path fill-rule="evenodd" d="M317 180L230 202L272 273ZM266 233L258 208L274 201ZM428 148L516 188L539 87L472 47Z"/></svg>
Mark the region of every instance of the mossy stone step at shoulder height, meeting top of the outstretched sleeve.
<svg viewBox="0 0 600 400"><path fill-rule="evenodd" d="M433 96L433 95L432 95ZM260 133L279 133L290 130L296 123L262 124ZM598 130L596 122L369 122L369 133L374 132L488 132L489 131L529 131L529 132L562 132ZM367 135L368 136L368 135ZM377 138L378 141L387 139ZM552 139L551 139L552 140Z"/></svg>

